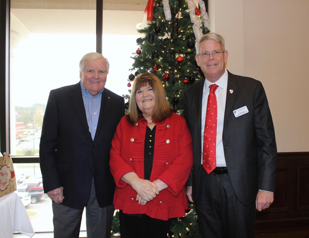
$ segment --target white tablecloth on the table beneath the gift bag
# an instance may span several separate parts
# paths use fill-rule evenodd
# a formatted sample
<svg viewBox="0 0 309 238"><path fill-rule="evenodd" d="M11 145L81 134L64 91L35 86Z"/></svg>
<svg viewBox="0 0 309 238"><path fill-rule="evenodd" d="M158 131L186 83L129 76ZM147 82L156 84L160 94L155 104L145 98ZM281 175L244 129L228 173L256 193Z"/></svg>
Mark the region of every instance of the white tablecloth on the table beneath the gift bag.
<svg viewBox="0 0 309 238"><path fill-rule="evenodd" d="M17 193L0 197L0 237L12 238L13 232L34 236L27 211Z"/></svg>

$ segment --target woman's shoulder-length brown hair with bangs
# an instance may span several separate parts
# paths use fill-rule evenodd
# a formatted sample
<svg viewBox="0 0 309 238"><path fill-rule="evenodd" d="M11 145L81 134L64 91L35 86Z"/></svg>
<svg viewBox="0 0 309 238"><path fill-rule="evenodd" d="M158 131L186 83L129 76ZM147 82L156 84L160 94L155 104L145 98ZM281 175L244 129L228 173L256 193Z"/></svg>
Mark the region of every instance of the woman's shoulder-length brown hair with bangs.
<svg viewBox="0 0 309 238"><path fill-rule="evenodd" d="M134 79L133 88L131 90L129 110L127 113L127 119L131 125L134 125L138 119L142 117L142 111L139 110L135 101L135 93L138 89L146 85L151 86L155 94L155 108L153 110L152 119L161 122L172 114L172 108L166 99L166 94L159 78L154 74L141 73Z"/></svg>

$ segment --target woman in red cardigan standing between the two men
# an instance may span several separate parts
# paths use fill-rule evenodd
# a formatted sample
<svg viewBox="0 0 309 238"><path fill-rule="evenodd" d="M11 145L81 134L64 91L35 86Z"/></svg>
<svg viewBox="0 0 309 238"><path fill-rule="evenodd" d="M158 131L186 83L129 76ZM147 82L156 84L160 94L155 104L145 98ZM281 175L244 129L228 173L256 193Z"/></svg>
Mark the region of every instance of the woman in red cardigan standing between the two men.
<svg viewBox="0 0 309 238"><path fill-rule="evenodd" d="M186 122L172 113L159 78L139 74L110 152L121 238L167 237L171 218L183 217L188 207L192 153Z"/></svg>

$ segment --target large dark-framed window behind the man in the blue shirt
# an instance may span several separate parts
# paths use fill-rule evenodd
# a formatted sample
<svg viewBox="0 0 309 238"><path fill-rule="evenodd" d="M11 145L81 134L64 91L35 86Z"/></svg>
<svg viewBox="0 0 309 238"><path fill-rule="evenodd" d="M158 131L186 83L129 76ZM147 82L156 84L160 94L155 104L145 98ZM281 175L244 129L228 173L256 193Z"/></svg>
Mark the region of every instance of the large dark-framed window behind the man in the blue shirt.
<svg viewBox="0 0 309 238"><path fill-rule="evenodd" d="M53 231L51 200L43 192L38 163L49 91L76 84L80 58L102 45L110 63L106 88L119 95L128 93L130 56L140 37L136 26L147 0L102 2L1 1L0 57L5 62L0 65L1 152L13 157L18 191L31 196L26 209L33 211L35 232ZM96 6L103 12L101 29ZM81 230L86 229L83 217Z"/></svg>

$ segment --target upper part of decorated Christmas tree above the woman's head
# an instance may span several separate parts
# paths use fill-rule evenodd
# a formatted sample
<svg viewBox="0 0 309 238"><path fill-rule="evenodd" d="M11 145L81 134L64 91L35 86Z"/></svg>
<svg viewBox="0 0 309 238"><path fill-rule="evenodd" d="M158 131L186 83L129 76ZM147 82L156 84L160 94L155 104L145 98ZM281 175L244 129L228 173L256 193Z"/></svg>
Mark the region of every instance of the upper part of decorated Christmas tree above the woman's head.
<svg viewBox="0 0 309 238"><path fill-rule="evenodd" d="M131 57L134 75L129 75L129 81L138 73L154 73L162 79L168 101L180 115L184 90L204 77L195 61L194 45L209 29L204 1L199 3L201 10L194 0L149 0L145 12L150 23L138 30L143 37L136 40L138 49Z"/></svg>

